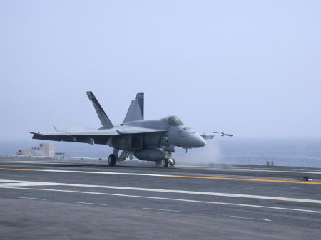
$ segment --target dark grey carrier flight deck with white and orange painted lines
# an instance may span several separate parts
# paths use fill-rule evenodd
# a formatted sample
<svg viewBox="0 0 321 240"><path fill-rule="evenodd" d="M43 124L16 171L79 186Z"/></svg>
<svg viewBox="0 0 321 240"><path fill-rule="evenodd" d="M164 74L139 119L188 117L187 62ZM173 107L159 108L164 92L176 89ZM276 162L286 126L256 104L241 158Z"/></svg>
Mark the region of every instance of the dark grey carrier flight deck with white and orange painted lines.
<svg viewBox="0 0 321 240"><path fill-rule="evenodd" d="M4 239L320 239L321 169L0 159Z"/></svg>

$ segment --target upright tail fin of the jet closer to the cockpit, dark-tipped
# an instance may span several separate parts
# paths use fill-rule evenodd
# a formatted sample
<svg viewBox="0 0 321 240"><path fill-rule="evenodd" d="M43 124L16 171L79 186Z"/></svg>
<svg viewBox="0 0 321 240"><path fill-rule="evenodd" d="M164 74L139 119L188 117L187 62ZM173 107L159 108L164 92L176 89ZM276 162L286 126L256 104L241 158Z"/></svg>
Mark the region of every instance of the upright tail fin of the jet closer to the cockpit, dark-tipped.
<svg viewBox="0 0 321 240"><path fill-rule="evenodd" d="M144 119L144 93L137 93L135 100L131 101L123 123Z"/></svg>

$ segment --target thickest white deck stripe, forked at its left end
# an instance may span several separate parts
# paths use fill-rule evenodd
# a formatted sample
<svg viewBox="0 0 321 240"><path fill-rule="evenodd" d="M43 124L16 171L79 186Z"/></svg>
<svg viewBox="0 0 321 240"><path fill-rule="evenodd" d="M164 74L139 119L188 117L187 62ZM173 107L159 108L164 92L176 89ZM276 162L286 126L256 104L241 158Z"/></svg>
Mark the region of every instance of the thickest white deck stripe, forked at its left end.
<svg viewBox="0 0 321 240"><path fill-rule="evenodd" d="M120 186L106 186L106 185L90 185L90 184L67 184L58 182L30 182L30 181L9 181L0 180L0 182L16 182L16 183L4 183L0 184L0 187L14 188L14 187L34 187L34 186L68 186L68 187L96 187L104 189L119 189L119 190L133 190L143 192L166 192L166 193L178 193L178 194L196 194L206 196L217 196L217 197L238 197L238 198L249 198L249 199L264 199L272 201L282 202L303 202L312 204L321 204L321 200L315 199L297 199L291 197L270 197L260 195L248 195L248 194L230 194L222 192L198 192L198 191L185 191L185 190L172 190L172 189L151 189L142 187L120 187Z"/></svg>

